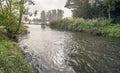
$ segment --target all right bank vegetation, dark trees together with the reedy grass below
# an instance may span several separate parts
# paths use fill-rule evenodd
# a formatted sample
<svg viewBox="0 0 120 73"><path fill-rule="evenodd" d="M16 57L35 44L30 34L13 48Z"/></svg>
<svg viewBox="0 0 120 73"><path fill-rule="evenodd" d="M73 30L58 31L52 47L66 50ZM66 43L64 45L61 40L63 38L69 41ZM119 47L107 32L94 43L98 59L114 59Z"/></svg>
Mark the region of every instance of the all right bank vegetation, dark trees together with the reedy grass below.
<svg viewBox="0 0 120 73"><path fill-rule="evenodd" d="M65 7L73 18L52 21L50 27L120 38L119 0L67 0Z"/></svg>

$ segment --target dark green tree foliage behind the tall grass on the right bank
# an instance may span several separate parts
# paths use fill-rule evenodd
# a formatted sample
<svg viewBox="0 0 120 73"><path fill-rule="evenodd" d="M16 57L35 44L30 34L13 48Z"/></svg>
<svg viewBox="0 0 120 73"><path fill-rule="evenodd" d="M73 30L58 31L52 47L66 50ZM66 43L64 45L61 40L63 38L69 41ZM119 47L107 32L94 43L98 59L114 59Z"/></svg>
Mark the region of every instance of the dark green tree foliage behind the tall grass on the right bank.
<svg viewBox="0 0 120 73"><path fill-rule="evenodd" d="M120 0L67 0L65 7L72 10L73 17L120 17Z"/></svg>

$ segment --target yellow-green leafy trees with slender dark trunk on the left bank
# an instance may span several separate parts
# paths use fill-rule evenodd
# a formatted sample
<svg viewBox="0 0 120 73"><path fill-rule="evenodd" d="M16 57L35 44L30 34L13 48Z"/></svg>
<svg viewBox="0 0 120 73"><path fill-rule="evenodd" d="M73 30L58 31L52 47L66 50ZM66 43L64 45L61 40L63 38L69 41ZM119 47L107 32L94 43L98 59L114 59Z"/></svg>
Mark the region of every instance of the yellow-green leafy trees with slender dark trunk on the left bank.
<svg viewBox="0 0 120 73"><path fill-rule="evenodd" d="M26 5L32 3L31 0L0 0L0 25L6 26L10 38L18 33Z"/></svg>

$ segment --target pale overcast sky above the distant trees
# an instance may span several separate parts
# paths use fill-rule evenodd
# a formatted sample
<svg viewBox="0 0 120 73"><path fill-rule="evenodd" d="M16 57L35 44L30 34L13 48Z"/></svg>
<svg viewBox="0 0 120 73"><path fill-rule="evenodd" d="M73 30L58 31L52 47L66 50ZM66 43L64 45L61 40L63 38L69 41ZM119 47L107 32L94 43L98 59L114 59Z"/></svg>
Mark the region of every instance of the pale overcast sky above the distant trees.
<svg viewBox="0 0 120 73"><path fill-rule="evenodd" d="M64 10L64 17L70 17L71 11L65 8L65 3L67 0L34 0L35 5L30 6L30 12L38 11L37 17L40 17L40 12L42 10L48 11L51 9L62 9Z"/></svg>

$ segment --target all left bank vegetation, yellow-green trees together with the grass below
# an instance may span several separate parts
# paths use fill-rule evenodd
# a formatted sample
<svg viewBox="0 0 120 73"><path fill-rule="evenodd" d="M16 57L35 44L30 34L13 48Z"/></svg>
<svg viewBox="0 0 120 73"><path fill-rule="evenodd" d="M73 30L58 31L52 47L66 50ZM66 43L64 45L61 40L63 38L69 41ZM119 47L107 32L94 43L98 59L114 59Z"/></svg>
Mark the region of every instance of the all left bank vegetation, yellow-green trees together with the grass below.
<svg viewBox="0 0 120 73"><path fill-rule="evenodd" d="M0 73L33 73L15 42L26 31L22 19L29 3L32 1L0 0Z"/></svg>

